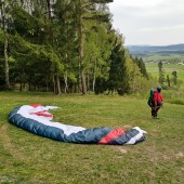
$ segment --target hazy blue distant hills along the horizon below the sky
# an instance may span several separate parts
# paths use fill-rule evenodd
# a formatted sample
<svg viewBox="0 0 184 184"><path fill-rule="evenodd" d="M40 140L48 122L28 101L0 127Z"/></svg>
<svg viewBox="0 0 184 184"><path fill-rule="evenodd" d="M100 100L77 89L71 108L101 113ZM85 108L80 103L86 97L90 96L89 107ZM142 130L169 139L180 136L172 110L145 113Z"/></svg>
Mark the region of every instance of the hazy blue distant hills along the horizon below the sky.
<svg viewBox="0 0 184 184"><path fill-rule="evenodd" d="M170 45L128 45L130 54L135 56L146 55L184 55L184 43Z"/></svg>

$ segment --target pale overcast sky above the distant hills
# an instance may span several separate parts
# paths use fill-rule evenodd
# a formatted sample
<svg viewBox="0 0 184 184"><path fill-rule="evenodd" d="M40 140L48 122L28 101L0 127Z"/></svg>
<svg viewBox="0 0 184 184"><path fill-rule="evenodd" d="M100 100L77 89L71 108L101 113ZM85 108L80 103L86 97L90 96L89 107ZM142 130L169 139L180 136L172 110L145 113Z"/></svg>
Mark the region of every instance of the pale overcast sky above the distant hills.
<svg viewBox="0 0 184 184"><path fill-rule="evenodd" d="M184 0L114 0L109 11L126 45L184 43Z"/></svg>

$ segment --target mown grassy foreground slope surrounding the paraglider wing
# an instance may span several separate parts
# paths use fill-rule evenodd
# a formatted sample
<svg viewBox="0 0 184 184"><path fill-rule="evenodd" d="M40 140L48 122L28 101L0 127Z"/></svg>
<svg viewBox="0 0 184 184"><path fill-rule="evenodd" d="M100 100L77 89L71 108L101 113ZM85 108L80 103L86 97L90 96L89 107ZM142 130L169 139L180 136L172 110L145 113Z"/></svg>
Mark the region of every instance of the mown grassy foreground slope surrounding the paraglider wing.
<svg viewBox="0 0 184 184"><path fill-rule="evenodd" d="M121 96L0 93L0 183L26 184L181 184L184 183L183 105L165 103L150 118L145 100ZM137 145L69 144L37 136L10 124L16 106L41 103L54 120L86 128L147 131Z"/></svg>

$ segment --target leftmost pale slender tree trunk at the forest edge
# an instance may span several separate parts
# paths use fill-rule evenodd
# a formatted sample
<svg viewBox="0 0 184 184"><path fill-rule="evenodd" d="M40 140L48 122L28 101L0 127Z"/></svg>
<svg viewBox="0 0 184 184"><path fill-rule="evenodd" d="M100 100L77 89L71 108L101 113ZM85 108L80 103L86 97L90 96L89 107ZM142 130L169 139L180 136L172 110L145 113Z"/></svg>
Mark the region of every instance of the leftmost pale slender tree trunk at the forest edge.
<svg viewBox="0 0 184 184"><path fill-rule="evenodd" d="M4 37L4 75L5 75L5 88L10 90L10 81L9 81L9 60L8 60L8 39Z"/></svg>

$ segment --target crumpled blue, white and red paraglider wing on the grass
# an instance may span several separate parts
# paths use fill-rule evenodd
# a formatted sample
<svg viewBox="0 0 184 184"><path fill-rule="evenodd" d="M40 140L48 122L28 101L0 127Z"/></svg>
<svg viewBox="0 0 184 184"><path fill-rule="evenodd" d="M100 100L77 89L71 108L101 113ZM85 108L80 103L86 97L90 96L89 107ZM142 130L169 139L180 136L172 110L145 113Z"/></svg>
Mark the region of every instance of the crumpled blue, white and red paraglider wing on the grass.
<svg viewBox="0 0 184 184"><path fill-rule="evenodd" d="M144 130L135 127L129 131L107 127L86 129L52 121L49 109L56 106L41 104L16 107L9 115L9 122L40 136L52 140L83 144L136 144L145 140Z"/></svg>

